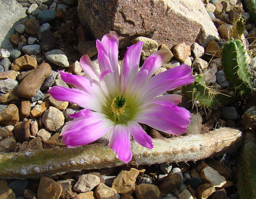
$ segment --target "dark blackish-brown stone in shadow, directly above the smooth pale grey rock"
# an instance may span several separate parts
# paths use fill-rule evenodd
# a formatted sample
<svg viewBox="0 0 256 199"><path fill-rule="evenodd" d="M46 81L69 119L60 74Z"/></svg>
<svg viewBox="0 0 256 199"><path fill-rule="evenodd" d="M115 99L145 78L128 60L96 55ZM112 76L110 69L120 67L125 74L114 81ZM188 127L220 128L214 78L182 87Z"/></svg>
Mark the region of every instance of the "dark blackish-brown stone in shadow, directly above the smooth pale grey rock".
<svg viewBox="0 0 256 199"><path fill-rule="evenodd" d="M42 34L41 49L43 51L53 50L56 46L56 39L50 30L45 30Z"/></svg>

